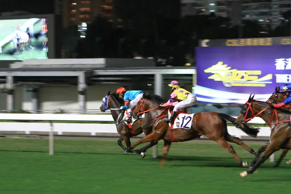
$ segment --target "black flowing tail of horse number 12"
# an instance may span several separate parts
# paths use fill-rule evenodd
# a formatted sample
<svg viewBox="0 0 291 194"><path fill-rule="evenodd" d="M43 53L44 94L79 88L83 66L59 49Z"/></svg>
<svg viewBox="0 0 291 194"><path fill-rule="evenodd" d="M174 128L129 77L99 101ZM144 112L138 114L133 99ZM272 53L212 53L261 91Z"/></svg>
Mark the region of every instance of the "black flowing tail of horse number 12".
<svg viewBox="0 0 291 194"><path fill-rule="evenodd" d="M218 113L218 115L220 116L220 118L222 120L224 120L225 122L228 121L232 124L234 124L235 118L233 118L232 116L229 116L227 114L224 113ZM226 123L225 124L225 129L227 130L227 126ZM250 127L248 125L246 125L245 123L240 125L239 127L236 127L241 129L243 132L245 132L247 135L252 136L252 137L257 137L258 133L259 133L259 128L255 128L255 127Z"/></svg>

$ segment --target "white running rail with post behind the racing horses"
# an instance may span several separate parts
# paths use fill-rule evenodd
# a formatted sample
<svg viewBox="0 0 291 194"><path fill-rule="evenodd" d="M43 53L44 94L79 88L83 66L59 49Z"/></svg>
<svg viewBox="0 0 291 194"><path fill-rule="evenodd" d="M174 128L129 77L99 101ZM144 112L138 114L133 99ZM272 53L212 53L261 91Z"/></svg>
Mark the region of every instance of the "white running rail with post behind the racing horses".
<svg viewBox="0 0 291 194"><path fill-rule="evenodd" d="M53 155L53 132L62 135L63 132L89 132L96 133L117 133L115 124L84 124L84 123L53 123L53 121L113 121L111 114L17 114L0 113L0 120L30 120L30 121L50 121L50 123L25 123L25 122L2 122L0 131L23 131L25 134L31 132L49 132L49 154ZM249 123L265 124L265 122L255 117ZM229 134L237 137L246 134L236 127L227 127ZM258 136L270 136L271 129L261 127ZM153 154L154 156L157 153ZM273 155L274 157L274 155ZM271 157L272 158L272 157ZM274 159L270 160L274 162Z"/></svg>

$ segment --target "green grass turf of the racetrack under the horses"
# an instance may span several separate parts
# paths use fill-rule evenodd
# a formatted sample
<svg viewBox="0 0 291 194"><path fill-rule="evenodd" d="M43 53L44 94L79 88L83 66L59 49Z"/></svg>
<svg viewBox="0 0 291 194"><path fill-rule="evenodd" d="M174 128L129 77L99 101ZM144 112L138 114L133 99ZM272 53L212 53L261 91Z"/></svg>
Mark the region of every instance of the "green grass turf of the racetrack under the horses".
<svg viewBox="0 0 291 194"><path fill-rule="evenodd" d="M290 168L265 162L241 178L234 158L215 142L174 143L163 168L112 140L0 138L0 194L274 194L290 189ZM255 150L263 143L248 144ZM248 162L253 156L233 145ZM159 143L159 155L162 142ZM278 156L279 154L277 154ZM289 157L288 157L289 156Z"/></svg>

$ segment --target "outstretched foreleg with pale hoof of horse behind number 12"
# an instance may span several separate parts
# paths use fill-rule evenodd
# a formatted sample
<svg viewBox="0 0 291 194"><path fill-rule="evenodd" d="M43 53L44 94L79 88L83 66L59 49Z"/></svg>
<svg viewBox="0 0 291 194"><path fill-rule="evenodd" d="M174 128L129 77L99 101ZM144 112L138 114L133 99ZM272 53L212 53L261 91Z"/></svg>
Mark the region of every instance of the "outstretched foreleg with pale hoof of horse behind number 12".
<svg viewBox="0 0 291 194"><path fill-rule="evenodd" d="M248 174L253 174L259 166L264 163L275 151L280 149L280 146L285 142L286 139L282 140L273 140L270 144L268 144L265 153L259 158L259 160L255 163L254 166L250 166L248 171L243 171L240 173L242 177L246 177Z"/></svg>

